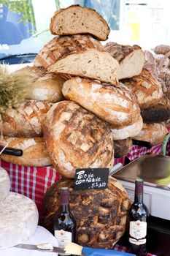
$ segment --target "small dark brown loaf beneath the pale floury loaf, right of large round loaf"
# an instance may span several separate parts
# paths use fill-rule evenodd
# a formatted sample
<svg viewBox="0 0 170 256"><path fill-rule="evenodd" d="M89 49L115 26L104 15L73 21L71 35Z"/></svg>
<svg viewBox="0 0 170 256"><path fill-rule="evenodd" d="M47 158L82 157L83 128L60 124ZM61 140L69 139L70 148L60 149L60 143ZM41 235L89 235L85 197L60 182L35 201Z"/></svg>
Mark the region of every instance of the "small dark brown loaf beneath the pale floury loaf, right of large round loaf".
<svg viewBox="0 0 170 256"><path fill-rule="evenodd" d="M114 157L119 158L125 156L126 154L128 154L129 151L131 151L132 146L133 143L131 138L127 138L124 140L114 140Z"/></svg>

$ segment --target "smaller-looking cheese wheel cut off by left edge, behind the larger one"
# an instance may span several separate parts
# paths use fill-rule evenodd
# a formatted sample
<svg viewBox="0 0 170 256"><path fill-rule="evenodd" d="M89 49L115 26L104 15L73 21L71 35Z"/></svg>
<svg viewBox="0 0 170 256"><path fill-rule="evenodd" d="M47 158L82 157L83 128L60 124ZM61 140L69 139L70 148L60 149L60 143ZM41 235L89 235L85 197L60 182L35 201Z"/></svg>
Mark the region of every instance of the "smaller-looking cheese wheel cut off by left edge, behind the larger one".
<svg viewBox="0 0 170 256"><path fill-rule="evenodd" d="M10 179L7 170L0 167L0 201L4 200L9 194Z"/></svg>

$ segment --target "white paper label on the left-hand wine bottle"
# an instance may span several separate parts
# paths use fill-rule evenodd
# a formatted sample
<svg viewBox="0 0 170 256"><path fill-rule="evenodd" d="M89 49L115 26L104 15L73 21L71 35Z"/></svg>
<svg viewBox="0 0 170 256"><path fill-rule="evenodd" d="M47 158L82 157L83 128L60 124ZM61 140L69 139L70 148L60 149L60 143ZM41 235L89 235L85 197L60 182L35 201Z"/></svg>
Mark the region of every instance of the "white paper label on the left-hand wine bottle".
<svg viewBox="0 0 170 256"><path fill-rule="evenodd" d="M57 238L58 246L65 248L67 244L72 242L72 233L64 230L55 230L55 238ZM64 254L67 255L67 254Z"/></svg>

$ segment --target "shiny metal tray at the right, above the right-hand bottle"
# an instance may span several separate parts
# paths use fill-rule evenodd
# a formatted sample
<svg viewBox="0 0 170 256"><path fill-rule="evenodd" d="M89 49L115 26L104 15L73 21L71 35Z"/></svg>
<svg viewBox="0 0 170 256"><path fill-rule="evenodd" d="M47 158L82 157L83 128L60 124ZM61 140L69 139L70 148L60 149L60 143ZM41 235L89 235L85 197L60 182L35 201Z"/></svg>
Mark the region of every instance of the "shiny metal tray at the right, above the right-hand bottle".
<svg viewBox="0 0 170 256"><path fill-rule="evenodd" d="M170 189L170 157L145 154L117 170L112 176L131 182L142 178L144 185Z"/></svg>

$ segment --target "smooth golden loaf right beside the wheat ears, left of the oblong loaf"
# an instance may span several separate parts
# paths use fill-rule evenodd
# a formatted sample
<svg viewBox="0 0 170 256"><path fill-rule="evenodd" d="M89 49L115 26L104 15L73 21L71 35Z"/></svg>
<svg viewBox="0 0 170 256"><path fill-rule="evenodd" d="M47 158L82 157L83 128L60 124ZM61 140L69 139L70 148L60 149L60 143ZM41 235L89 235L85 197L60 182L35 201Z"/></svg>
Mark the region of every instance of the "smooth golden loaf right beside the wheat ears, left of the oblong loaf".
<svg viewBox="0 0 170 256"><path fill-rule="evenodd" d="M59 102L63 98L62 88L65 79L58 74L45 74L31 85L27 99Z"/></svg>

